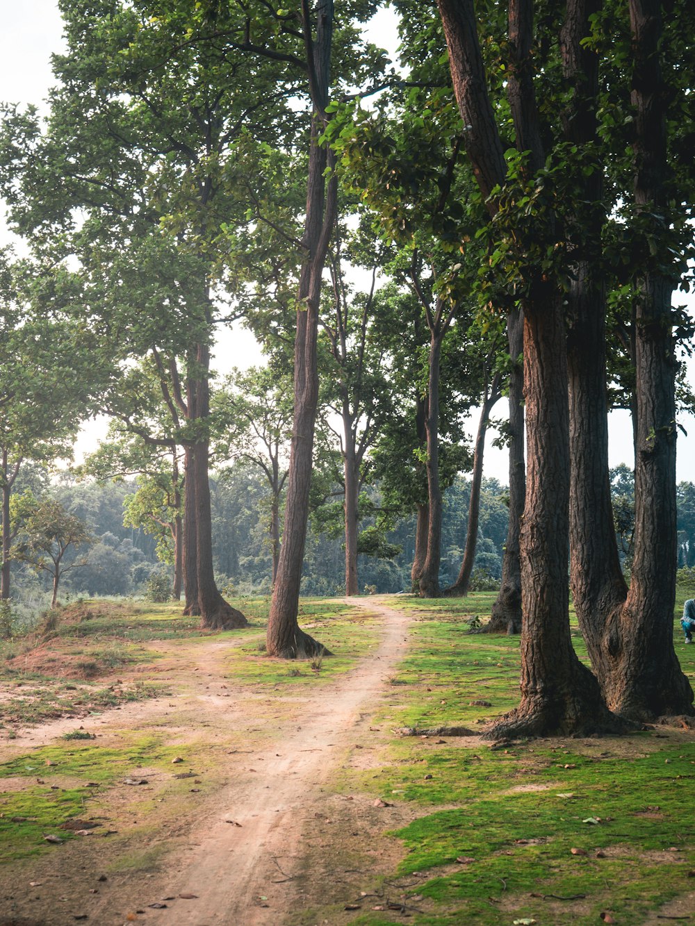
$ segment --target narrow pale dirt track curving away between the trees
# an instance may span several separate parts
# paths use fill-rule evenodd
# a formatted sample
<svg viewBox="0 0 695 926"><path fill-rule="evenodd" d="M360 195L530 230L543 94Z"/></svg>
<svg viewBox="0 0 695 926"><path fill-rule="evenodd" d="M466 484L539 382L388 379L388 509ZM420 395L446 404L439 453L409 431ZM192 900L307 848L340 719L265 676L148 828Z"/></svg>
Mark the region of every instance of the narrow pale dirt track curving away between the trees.
<svg viewBox="0 0 695 926"><path fill-rule="evenodd" d="M167 894L198 895L195 906L178 908L181 926L278 923L280 911L297 902L292 870L302 856L303 833L325 805L322 783L360 737L365 712L373 712L406 646L406 616L372 602L368 607L385 619L373 656L307 698L300 726L284 730L254 756L259 770L224 789L217 819L208 821L194 851L178 860Z"/></svg>

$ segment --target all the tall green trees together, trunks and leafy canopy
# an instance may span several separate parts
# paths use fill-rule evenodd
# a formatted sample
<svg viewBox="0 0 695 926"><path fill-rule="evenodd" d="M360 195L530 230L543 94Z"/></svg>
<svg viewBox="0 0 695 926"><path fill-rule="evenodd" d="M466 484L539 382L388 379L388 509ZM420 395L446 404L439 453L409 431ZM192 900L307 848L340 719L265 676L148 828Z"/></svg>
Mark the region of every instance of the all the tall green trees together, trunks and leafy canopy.
<svg viewBox="0 0 695 926"><path fill-rule="evenodd" d="M186 612L244 626L215 581L208 471L224 432L250 429L248 452L284 492L268 652L311 655L322 645L297 610L317 460L341 466L347 594L370 482L383 503L363 542L386 544L389 512L409 505L413 585L465 594L485 432L506 393L490 627L521 627L522 700L496 735L691 714L672 625L676 403L692 401L676 360L691 321L673 306L693 245L692 8L395 7L398 68L364 41L365 0L63 0L49 117L6 106L0 136L1 192L32 253L3 268L4 484L106 412L124 456L105 466L140 467L167 496ZM268 432L244 409L250 385L212 375L215 332L235 319L264 345L266 395L291 399ZM629 586L611 403L634 422ZM291 434L282 476L273 428ZM466 467L470 535L443 588L443 493ZM593 672L572 647L568 561Z"/></svg>

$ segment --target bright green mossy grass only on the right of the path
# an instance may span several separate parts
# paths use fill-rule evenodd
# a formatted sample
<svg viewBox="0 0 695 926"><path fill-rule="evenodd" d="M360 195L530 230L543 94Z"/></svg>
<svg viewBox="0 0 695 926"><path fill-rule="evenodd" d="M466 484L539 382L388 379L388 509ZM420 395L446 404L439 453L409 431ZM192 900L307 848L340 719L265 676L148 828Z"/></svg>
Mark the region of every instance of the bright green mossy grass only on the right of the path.
<svg viewBox="0 0 695 926"><path fill-rule="evenodd" d="M399 596L394 606L410 609L416 620L409 655L391 680L377 722L476 731L518 702L518 637L470 633L461 623L488 615L493 599L489 593L465 601ZM586 660L574 615L573 640ZM683 646L677 635L676 641L692 678L695 647ZM394 877L411 885L404 895L415 926L499 926L523 918L574 926L600 922L603 911L636 923L692 890L691 732L506 748L409 736L392 742L380 768L345 772L341 786L414 813L395 833L405 857ZM397 914L376 911L352 920L370 926L398 921Z"/></svg>

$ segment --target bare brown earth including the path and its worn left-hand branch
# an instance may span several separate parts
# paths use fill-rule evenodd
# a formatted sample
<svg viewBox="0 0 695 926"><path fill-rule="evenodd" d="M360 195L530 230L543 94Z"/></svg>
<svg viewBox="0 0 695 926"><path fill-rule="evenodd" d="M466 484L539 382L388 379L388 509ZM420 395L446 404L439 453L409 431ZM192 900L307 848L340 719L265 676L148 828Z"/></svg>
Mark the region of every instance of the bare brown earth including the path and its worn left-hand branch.
<svg viewBox="0 0 695 926"><path fill-rule="evenodd" d="M176 694L85 726L103 745L133 732L163 736L181 745L185 764L171 774L133 769L150 772L146 785L120 781L86 804L100 823L93 835L6 865L0 926L11 918L63 926L78 917L104 926L309 924L319 908L341 924L355 916L345 907L404 902L400 882L382 884L401 856L383 833L411 820L411 810L398 801L376 807L330 785L353 758L374 760L381 736L370 718L392 696L389 678L406 647L407 615L373 600L353 604L383 619L378 648L337 682L317 680L289 698L235 691L223 674L227 642L155 644L158 682ZM74 725L22 730L4 747L17 755ZM175 781L189 765L196 778ZM117 832L99 834L109 830Z"/></svg>

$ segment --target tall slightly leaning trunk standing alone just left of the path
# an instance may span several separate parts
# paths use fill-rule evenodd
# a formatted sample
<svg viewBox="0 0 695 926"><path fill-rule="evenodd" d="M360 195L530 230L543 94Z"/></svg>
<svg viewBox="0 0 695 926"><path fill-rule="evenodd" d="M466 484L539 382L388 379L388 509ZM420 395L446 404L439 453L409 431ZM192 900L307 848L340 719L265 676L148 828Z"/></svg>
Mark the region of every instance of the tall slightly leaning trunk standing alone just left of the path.
<svg viewBox="0 0 695 926"><path fill-rule="evenodd" d="M328 105L333 0L322 0L317 7L316 40L311 42L311 24L304 22L310 45L313 72L310 80L314 114L311 121L307 209L302 243L307 249L297 293L297 333L295 336L295 414L287 474L283 544L280 549L277 580L272 590L266 637L269 656L297 658L325 652L323 646L301 631L297 622L304 544L309 519L311 462L318 403L319 375L316 342L321 300L322 272L335 226L335 175L326 179L330 167L328 149L319 143L325 107Z"/></svg>

